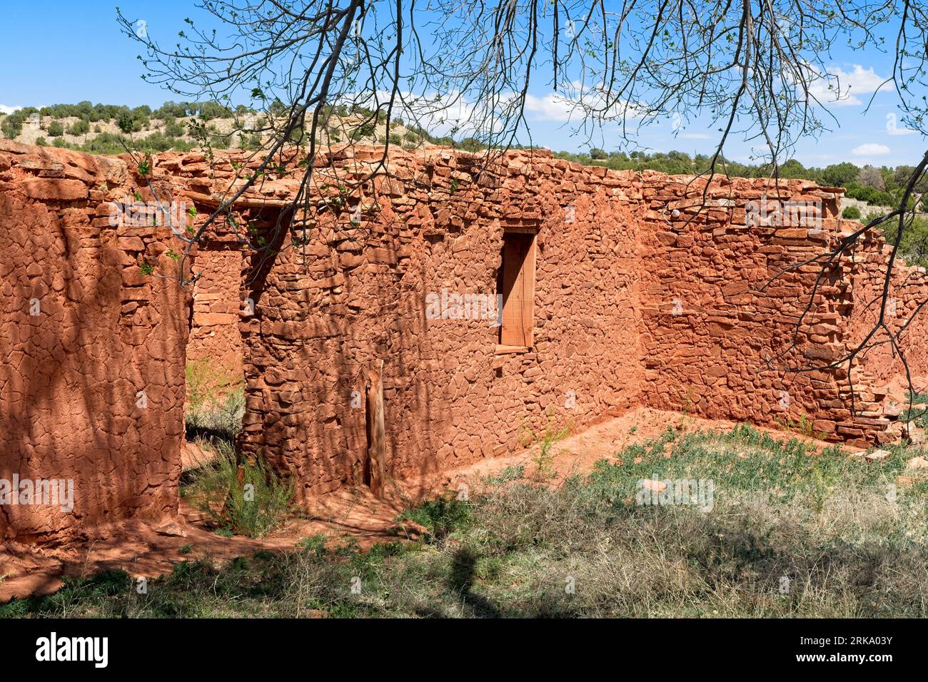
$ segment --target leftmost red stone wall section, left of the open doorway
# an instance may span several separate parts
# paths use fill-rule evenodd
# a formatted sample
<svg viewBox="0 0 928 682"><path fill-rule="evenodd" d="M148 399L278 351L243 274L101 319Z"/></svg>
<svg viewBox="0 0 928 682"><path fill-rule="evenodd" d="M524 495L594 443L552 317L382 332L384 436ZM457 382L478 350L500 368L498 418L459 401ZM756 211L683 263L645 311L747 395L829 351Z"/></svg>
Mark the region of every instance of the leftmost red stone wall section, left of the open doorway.
<svg viewBox="0 0 928 682"><path fill-rule="evenodd" d="M134 185L124 161L0 142L0 479L73 482L71 511L0 505L4 539L176 509L186 294L139 268L169 272L167 228L111 225Z"/></svg>

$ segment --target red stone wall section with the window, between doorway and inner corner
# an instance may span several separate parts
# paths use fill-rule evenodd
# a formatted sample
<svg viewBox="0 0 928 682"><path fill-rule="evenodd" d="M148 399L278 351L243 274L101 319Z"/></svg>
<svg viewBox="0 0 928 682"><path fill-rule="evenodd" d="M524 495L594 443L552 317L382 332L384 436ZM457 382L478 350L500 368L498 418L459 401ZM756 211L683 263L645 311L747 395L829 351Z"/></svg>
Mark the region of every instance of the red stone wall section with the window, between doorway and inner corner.
<svg viewBox="0 0 928 682"><path fill-rule="evenodd" d="M290 236L281 246L247 325L243 444L306 493L360 483L360 396L380 362L394 478L498 456L530 430L579 428L636 402L637 221L615 200L632 182L545 153L509 154L479 179L469 162L398 157L356 225L351 202L313 216L308 264ZM537 229L528 352L497 353L486 320L426 311L442 290L496 295L507 227Z"/></svg>

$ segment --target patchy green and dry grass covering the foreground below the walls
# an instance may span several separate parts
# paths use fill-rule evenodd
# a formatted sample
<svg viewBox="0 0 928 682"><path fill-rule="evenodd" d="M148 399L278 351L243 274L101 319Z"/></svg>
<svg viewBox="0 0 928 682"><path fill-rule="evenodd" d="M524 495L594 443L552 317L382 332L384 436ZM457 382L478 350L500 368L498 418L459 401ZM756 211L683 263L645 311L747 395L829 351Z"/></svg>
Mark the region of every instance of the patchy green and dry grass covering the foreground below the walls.
<svg viewBox="0 0 928 682"><path fill-rule="evenodd" d="M866 463L750 427L670 430L556 488L510 472L408 509L431 532L418 542L314 535L225 566L191 558L146 595L101 573L0 614L924 617L928 483L894 488L916 452L889 449ZM637 504L652 477L711 480L713 504Z"/></svg>

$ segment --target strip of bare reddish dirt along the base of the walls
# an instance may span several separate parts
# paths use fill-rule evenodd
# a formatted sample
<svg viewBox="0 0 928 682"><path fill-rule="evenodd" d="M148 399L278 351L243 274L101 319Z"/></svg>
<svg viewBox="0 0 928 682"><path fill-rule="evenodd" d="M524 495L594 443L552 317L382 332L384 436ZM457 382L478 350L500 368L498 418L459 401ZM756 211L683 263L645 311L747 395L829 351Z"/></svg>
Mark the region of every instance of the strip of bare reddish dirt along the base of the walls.
<svg viewBox="0 0 928 682"><path fill-rule="evenodd" d="M549 465L549 471L554 473L551 481L557 484L566 476L585 473L597 460L612 457L629 444L654 438L668 425L681 431L725 431L735 422L639 407L555 443ZM761 431L803 438L784 431ZM810 438L804 440L827 445ZM213 533L205 514L182 499L178 518L160 526L125 521L98 527L93 537L67 547L5 547L0 550L0 602L54 592L63 585L62 576L122 569L133 576L153 577L170 573L179 561L203 557L225 561L249 556L259 549L285 551L303 538L319 533L333 538L354 538L360 547L409 537L416 533L415 528L396 522L396 516L405 508L449 490L471 494L480 489L485 477L498 475L509 467L523 466L525 475L531 478L536 469L536 454L537 446L419 480L393 482L388 486L391 491L387 499L378 499L367 489L342 489L316 498L307 513L260 540ZM182 554L181 548L186 546L191 546L192 551Z"/></svg>

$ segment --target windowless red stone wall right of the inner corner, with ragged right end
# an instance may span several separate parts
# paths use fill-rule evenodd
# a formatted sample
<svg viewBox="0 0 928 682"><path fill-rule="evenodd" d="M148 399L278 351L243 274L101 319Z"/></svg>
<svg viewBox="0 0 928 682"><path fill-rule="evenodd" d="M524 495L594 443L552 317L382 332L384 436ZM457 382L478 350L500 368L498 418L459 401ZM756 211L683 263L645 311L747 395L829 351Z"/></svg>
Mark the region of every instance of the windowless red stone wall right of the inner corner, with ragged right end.
<svg viewBox="0 0 928 682"><path fill-rule="evenodd" d="M844 408L842 370L789 371L833 356L831 291L818 294L796 335L818 268L774 277L833 241L837 196L802 181L782 182L779 191L765 181L719 181L707 190L709 208L700 209L704 183L688 180L644 175L643 401L760 424L806 417L833 431L827 420ZM761 201L820 204L818 231L769 216L749 220L750 202Z"/></svg>

